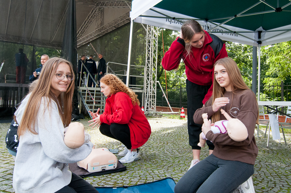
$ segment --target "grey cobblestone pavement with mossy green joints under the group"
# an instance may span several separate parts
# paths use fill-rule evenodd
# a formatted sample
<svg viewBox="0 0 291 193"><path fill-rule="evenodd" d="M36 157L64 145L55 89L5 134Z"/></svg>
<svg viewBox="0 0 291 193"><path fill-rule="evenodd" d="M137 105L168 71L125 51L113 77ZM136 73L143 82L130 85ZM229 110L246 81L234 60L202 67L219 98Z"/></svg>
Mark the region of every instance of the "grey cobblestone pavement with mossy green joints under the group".
<svg viewBox="0 0 291 193"><path fill-rule="evenodd" d="M86 131L91 134L91 141L98 147L123 150L120 142L102 135L99 129L88 127L88 119L81 120ZM124 164L127 170L103 176L85 178L93 186L123 186L136 185L171 177L177 182L187 171L192 153L188 144L187 121L168 118L149 118L152 135L140 151L141 159ZM14 192L12 175L14 162L5 144L9 123L0 124L0 192ZM256 132L255 132L256 133ZM291 192L291 137L286 135L288 145L284 140L270 140L256 137L259 155L255 162L253 184L256 192ZM283 138L283 137L282 137ZM270 137L272 139L272 137ZM117 155L117 154L116 154ZM207 148L201 150L201 158L208 155ZM118 156L118 158L121 158Z"/></svg>

